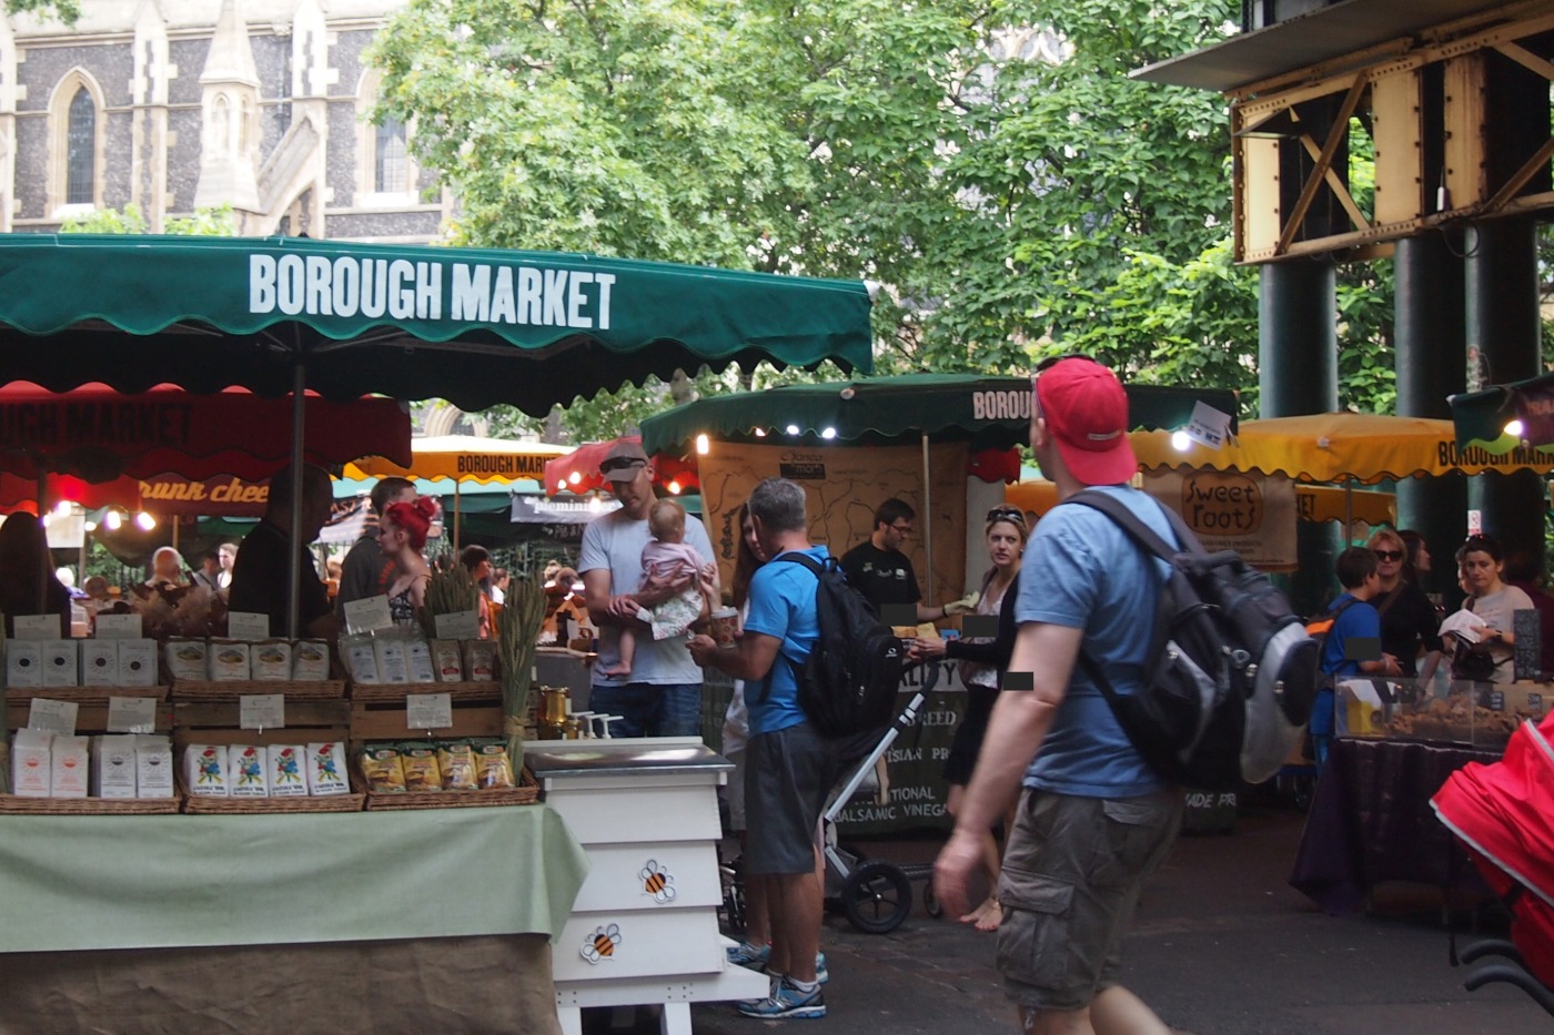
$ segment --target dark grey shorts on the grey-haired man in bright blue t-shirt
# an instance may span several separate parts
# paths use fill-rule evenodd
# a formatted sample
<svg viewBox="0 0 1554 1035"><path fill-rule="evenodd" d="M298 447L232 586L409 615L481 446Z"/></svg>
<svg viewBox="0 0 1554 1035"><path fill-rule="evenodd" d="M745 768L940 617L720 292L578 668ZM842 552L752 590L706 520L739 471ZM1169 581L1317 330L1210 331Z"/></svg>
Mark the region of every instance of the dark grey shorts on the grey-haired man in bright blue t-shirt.
<svg viewBox="0 0 1554 1035"><path fill-rule="evenodd" d="M746 873L813 873L814 825L842 765L834 741L802 723L751 737L744 755Z"/></svg>

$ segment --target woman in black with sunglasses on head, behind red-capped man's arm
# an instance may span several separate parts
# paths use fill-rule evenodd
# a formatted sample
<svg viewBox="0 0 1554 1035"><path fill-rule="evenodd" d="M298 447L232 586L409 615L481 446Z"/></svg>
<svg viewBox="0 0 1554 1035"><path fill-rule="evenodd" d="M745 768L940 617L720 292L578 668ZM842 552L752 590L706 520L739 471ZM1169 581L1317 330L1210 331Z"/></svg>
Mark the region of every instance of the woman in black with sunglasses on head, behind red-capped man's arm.
<svg viewBox="0 0 1554 1035"><path fill-rule="evenodd" d="M967 687L967 712L956 729L954 741L949 744L949 757L945 760L945 780L949 783L949 800L946 808L954 816L960 811L960 799L971 782L971 771L976 768L976 757L982 751L982 738L987 734L988 716L998 701L998 688L1009 668L1009 656L1015 650L1015 600L1019 597L1019 558L1026 550L1029 530L1026 514L1016 507L995 507L987 514L987 553L993 566L982 577L981 597L973 614L998 617L998 636L963 636L954 640L917 639L912 642L911 656L914 660L937 660L951 657L960 662L960 679ZM982 845L982 862L987 867L988 887L998 887L1001 869L998 841L993 831L987 831ZM996 890L990 890L987 900L960 917L962 923L971 923L977 931L996 931L1002 920L1002 906Z"/></svg>

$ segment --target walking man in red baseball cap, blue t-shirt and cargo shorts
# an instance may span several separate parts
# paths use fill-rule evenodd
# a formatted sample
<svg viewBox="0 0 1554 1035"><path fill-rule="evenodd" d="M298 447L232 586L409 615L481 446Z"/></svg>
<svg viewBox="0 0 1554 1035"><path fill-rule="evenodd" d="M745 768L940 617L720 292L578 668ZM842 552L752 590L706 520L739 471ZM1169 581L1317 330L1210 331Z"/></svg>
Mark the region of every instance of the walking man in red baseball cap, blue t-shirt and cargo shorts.
<svg viewBox="0 0 1554 1035"><path fill-rule="evenodd" d="M1164 510L1128 486L1138 462L1116 375L1069 356L1040 367L1032 390L1030 446L1058 497L1113 496L1175 541ZM1077 664L1083 651L1117 693L1142 684L1150 628L1139 617L1156 611L1162 567L1091 507L1052 508L1026 547L1007 693L934 869L945 909L963 909L982 833L1019 791L998 957L1024 1032L1167 1032L1119 984L1119 965L1139 889L1181 827L1183 794L1145 765Z"/></svg>

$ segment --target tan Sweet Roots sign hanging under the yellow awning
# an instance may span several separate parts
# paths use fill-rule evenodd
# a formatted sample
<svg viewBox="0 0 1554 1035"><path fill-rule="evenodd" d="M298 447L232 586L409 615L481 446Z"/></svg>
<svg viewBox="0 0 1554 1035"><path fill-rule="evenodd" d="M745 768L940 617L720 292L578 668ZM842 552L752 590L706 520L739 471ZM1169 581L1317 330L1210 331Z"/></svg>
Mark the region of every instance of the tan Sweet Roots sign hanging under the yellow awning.
<svg viewBox="0 0 1554 1035"><path fill-rule="evenodd" d="M1206 550L1235 550L1262 569L1293 569L1294 483L1284 476L1150 471L1144 491L1187 522Z"/></svg>

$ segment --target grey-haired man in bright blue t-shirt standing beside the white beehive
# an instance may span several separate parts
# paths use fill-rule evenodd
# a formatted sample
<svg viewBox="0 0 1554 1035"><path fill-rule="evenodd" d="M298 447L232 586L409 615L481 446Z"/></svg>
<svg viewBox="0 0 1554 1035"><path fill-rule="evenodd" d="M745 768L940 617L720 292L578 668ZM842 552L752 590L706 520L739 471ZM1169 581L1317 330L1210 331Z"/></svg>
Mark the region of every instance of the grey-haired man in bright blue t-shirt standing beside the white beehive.
<svg viewBox="0 0 1554 1035"><path fill-rule="evenodd" d="M747 690L744 872L769 876L772 991L738 1009L757 1018L825 1016L816 974L824 892L814 872L814 828L842 755L799 707L797 673L821 637L816 578L803 564L782 559L793 552L822 563L830 556L810 544L807 502L796 482L766 479L755 486L746 507L760 552L772 559L751 578L744 632L732 650L709 636L688 643L698 665L721 668Z"/></svg>

